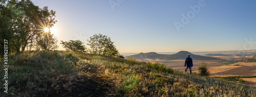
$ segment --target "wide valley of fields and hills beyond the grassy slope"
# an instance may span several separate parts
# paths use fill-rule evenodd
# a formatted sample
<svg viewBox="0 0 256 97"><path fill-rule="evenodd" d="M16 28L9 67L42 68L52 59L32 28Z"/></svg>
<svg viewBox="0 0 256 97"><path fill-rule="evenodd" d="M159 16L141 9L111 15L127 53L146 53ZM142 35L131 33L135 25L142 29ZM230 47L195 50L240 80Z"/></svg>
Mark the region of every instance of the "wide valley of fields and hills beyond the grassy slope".
<svg viewBox="0 0 256 97"><path fill-rule="evenodd" d="M193 59L192 72L199 73L198 67L204 62L210 71L210 77L228 76L255 76L256 62L246 62L248 58L256 55L256 50L248 50L242 54L239 51L216 51L216 52L196 52L195 55L187 51L180 51L174 54L158 54L155 52L139 53L131 55L139 61L164 63L166 67L185 72L185 58L190 54ZM126 56L131 57L131 56ZM250 86L256 86L255 78L242 78Z"/></svg>

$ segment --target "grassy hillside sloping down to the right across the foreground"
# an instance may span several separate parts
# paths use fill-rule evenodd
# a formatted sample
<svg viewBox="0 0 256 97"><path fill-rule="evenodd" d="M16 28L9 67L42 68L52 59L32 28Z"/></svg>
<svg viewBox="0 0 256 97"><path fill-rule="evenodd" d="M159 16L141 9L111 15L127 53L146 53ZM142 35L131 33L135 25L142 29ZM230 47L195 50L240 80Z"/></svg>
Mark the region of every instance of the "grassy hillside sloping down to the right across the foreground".
<svg viewBox="0 0 256 97"><path fill-rule="evenodd" d="M34 51L8 59L8 93L0 96L256 96L256 87L134 58Z"/></svg>

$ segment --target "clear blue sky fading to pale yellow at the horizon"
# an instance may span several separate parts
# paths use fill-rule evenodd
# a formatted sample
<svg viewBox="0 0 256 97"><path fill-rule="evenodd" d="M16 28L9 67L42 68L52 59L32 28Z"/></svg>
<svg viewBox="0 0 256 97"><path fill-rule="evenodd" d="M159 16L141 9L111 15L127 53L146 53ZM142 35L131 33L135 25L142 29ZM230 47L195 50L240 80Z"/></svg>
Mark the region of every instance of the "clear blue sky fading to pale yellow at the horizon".
<svg viewBox="0 0 256 97"><path fill-rule="evenodd" d="M56 11L57 23L52 33L59 42L79 39L87 44L89 37L102 34L114 41L120 53L256 49L253 0L33 0L33 3ZM60 44L59 50L63 50Z"/></svg>

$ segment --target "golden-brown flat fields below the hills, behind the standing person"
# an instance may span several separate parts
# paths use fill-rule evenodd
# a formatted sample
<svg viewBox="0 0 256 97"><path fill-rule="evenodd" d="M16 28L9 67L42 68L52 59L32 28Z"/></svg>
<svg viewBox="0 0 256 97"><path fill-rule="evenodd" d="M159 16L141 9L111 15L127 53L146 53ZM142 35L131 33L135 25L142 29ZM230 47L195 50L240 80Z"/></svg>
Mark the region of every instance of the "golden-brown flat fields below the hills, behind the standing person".
<svg viewBox="0 0 256 97"><path fill-rule="evenodd" d="M184 60L161 60L161 59L144 59L144 61L159 62L166 64L166 67L172 67L174 70L185 71ZM198 67L203 60L193 60L192 72L199 73ZM204 61L210 71L210 77L228 77L228 76L248 76L256 75L256 62L237 62L231 64L218 63L219 61ZM256 86L256 78L242 78L245 84Z"/></svg>

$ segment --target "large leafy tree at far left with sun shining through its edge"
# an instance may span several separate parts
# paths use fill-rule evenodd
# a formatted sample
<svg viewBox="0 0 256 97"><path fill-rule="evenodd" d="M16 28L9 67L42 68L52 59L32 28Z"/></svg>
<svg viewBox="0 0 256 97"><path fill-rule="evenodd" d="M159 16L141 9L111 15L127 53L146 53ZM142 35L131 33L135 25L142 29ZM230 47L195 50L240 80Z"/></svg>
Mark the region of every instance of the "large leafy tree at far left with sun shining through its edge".
<svg viewBox="0 0 256 97"><path fill-rule="evenodd" d="M0 11L0 37L8 40L10 43L8 48L15 52L25 51L44 28L50 28L57 22L55 11L49 11L48 7L40 9L29 0L1 1Z"/></svg>

